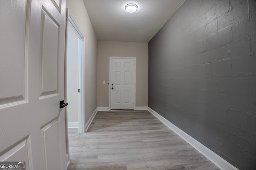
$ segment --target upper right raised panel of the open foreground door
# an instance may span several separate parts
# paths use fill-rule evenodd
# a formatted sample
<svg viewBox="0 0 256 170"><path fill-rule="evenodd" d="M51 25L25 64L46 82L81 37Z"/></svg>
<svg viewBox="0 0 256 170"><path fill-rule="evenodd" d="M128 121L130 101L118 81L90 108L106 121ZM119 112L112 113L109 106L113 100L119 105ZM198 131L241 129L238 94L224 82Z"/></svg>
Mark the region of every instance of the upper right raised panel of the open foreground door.
<svg viewBox="0 0 256 170"><path fill-rule="evenodd" d="M58 94L59 24L42 8L40 45L40 97Z"/></svg>

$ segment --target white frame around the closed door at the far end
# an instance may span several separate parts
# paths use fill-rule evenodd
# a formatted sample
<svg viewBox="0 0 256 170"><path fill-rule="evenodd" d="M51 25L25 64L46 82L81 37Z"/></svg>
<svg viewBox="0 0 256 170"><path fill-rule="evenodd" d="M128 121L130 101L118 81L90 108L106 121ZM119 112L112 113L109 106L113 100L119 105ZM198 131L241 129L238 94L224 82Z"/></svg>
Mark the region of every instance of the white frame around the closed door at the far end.
<svg viewBox="0 0 256 170"><path fill-rule="evenodd" d="M109 110L111 110L111 59L134 59L134 95L133 95L133 102L134 106L133 109L136 108L136 57L109 57Z"/></svg>

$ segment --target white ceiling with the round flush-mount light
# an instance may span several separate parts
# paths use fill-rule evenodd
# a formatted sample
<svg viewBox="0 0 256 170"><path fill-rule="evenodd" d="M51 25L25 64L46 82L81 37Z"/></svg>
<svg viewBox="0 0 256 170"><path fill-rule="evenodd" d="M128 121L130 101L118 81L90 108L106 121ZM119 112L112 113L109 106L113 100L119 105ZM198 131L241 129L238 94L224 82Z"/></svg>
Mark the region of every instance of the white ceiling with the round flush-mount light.
<svg viewBox="0 0 256 170"><path fill-rule="evenodd" d="M185 0L83 0L98 40L149 42ZM137 4L135 13L124 6Z"/></svg>

